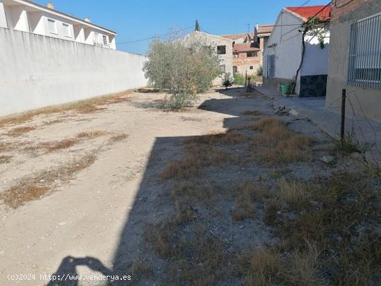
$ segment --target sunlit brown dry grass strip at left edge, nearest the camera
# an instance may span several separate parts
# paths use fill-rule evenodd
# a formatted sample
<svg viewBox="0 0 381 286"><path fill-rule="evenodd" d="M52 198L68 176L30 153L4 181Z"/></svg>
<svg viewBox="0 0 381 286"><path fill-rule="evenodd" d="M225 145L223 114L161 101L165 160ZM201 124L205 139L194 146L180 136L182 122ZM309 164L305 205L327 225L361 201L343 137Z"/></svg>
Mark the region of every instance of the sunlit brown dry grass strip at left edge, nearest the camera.
<svg viewBox="0 0 381 286"><path fill-rule="evenodd" d="M27 202L43 197L56 186L57 181L72 179L77 172L89 167L94 161L94 155L85 155L53 170L39 172L34 177L23 178L15 186L0 193L0 199L3 199L7 206L18 208Z"/></svg>

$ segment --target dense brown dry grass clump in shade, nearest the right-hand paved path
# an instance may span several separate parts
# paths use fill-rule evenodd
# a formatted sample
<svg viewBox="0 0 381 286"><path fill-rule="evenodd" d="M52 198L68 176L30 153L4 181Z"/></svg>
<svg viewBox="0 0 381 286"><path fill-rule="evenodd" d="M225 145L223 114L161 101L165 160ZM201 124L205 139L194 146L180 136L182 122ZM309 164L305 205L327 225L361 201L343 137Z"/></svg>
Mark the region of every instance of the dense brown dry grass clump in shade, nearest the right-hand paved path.
<svg viewBox="0 0 381 286"><path fill-rule="evenodd" d="M274 117L265 117L254 123L262 133L254 138L254 150L262 148L258 156L272 163L310 161L313 138L292 132L285 123Z"/></svg>

